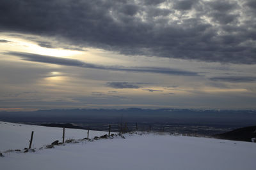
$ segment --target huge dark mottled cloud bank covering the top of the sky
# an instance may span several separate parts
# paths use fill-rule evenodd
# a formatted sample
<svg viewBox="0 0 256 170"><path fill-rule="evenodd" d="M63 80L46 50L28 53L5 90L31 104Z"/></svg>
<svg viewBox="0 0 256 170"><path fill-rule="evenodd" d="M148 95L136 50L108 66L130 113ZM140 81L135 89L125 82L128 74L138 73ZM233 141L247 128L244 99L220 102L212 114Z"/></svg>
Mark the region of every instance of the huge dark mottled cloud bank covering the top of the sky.
<svg viewBox="0 0 256 170"><path fill-rule="evenodd" d="M255 3L237 2L3 0L0 31L125 55L256 64L256 14L247 10ZM161 3L170 8L159 8Z"/></svg>

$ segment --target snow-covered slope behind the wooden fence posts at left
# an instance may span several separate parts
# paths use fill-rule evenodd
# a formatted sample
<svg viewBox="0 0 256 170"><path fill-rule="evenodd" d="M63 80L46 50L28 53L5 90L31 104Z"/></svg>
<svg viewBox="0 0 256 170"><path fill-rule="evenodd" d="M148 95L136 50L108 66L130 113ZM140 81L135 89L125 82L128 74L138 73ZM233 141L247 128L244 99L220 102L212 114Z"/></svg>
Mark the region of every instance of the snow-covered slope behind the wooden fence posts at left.
<svg viewBox="0 0 256 170"><path fill-rule="evenodd" d="M28 148L31 131L34 131L32 148L40 148L56 140L62 142L63 128L0 122L0 152ZM104 134L108 132L90 131L89 138ZM87 138L86 130L65 129L65 139L83 138Z"/></svg>

